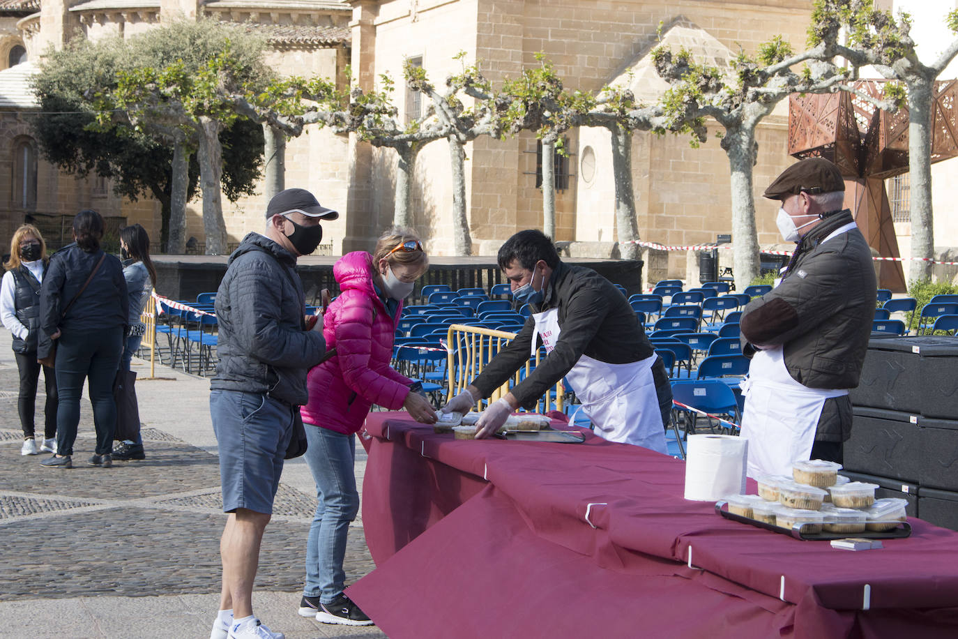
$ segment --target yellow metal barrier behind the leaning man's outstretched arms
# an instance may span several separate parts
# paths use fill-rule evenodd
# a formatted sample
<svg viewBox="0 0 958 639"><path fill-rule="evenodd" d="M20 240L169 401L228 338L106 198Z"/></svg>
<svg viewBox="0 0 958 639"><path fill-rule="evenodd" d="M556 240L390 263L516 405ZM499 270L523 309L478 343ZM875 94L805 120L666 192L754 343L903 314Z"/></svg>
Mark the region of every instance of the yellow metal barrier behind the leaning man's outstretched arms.
<svg viewBox="0 0 958 639"><path fill-rule="evenodd" d="M464 326L462 324L453 324L446 333L446 343L448 344L449 360L446 370L449 377L449 394L451 399L464 390L472 379L482 373L492 357L499 353L510 341L515 338L514 332L495 331L493 329L484 329L475 326ZM520 369L509 381L492 392L490 401L500 399L509 393L514 385L528 376L535 366L538 366L541 358L541 349L536 351L535 357L530 357L526 361L525 367ZM562 410L563 391L562 382L556 384L556 409ZM539 398L536 404L536 410L544 413L550 408L550 391Z"/></svg>

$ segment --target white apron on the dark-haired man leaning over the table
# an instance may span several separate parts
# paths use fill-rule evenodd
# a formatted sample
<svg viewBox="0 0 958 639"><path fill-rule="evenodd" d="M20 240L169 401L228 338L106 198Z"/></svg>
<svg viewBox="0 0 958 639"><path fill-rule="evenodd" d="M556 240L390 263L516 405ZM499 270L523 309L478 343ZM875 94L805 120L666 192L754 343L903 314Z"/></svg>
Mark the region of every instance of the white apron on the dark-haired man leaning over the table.
<svg viewBox="0 0 958 639"><path fill-rule="evenodd" d="M559 342L559 313L556 308L534 313L532 356L538 349L536 335L547 353ZM582 355L565 378L582 410L589 416L595 433L610 442L640 445L667 453L662 412L652 379L652 364L658 355L627 364L607 364Z"/></svg>

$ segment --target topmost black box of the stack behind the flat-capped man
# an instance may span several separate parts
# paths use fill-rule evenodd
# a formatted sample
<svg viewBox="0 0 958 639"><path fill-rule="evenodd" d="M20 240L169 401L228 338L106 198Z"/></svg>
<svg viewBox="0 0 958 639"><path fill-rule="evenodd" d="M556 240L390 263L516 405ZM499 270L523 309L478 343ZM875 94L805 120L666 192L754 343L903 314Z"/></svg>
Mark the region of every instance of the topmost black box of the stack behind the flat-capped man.
<svg viewBox="0 0 958 639"><path fill-rule="evenodd" d="M858 387L849 395L855 406L952 418L958 415L956 367L958 340L954 337L874 338Z"/></svg>

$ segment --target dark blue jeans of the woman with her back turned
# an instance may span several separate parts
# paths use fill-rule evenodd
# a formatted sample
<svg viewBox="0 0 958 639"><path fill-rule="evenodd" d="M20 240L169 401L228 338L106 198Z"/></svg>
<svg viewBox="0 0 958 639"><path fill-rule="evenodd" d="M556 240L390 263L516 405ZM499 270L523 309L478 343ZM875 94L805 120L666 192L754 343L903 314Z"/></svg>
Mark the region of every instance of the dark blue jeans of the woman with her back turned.
<svg viewBox="0 0 958 639"><path fill-rule="evenodd" d="M97 454L113 449L117 405L113 380L123 354L123 328L92 332L64 331L57 340L57 454L72 455L80 425L80 392L87 379L93 423L97 430Z"/></svg>

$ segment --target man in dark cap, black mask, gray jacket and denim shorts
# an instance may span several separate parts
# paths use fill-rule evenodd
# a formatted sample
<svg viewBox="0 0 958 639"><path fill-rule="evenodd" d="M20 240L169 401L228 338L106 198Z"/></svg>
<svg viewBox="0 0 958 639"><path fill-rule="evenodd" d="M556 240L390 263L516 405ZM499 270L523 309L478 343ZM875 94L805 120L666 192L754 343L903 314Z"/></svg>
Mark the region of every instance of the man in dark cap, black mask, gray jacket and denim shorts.
<svg viewBox="0 0 958 639"><path fill-rule="evenodd" d="M243 238L217 290L219 363L210 414L229 517L219 541L223 581L211 639L284 637L253 615L253 582L283 461L305 450L296 450L296 431L303 428L307 373L326 353L322 316L305 315L296 259L316 250L320 222L338 216L304 189L276 194L265 232Z"/></svg>

